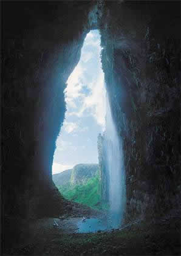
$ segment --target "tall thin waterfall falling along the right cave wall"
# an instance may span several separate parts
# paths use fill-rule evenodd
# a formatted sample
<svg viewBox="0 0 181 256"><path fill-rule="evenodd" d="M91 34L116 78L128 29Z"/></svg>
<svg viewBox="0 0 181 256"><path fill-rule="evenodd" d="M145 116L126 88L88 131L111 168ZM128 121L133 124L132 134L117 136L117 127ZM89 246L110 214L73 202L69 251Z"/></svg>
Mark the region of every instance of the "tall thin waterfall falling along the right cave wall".
<svg viewBox="0 0 181 256"><path fill-rule="evenodd" d="M109 220L111 221L111 227L117 228L121 225L125 208L125 168L121 138L118 137L112 120L108 95L106 97L106 128L103 143L109 187Z"/></svg>

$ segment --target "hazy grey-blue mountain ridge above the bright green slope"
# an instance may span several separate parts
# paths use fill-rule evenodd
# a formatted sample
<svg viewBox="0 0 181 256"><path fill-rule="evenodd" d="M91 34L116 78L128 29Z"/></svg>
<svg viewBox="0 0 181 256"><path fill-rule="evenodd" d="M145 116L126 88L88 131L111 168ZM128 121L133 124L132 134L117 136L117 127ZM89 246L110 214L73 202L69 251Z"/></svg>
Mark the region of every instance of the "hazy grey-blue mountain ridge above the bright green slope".
<svg viewBox="0 0 181 256"><path fill-rule="evenodd" d="M88 179L98 175L98 164L78 164L69 169L53 175L53 182L57 187L64 185L75 186L84 184Z"/></svg>

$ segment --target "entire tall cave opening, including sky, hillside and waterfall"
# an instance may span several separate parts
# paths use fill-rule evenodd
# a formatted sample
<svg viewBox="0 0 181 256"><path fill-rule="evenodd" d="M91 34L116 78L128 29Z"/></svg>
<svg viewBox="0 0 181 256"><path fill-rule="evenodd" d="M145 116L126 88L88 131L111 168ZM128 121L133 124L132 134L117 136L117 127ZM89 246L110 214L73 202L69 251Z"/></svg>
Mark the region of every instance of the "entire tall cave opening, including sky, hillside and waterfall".
<svg viewBox="0 0 181 256"><path fill-rule="evenodd" d="M91 30L67 79L65 119L53 156L53 182L64 198L107 211L106 226L93 219L92 229L84 223L81 232L119 227L125 207L123 150L106 91L102 50L99 30Z"/></svg>

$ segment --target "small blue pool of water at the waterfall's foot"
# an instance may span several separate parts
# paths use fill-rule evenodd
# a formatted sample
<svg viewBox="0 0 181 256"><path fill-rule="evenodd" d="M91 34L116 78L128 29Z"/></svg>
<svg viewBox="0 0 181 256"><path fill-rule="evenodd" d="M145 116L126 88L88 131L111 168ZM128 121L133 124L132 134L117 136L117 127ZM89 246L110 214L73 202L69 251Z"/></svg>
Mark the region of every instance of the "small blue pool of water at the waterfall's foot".
<svg viewBox="0 0 181 256"><path fill-rule="evenodd" d="M84 221L78 221L77 226L77 233L90 233L97 232L99 230L104 231L110 229L106 221L100 220L98 218L90 218Z"/></svg>

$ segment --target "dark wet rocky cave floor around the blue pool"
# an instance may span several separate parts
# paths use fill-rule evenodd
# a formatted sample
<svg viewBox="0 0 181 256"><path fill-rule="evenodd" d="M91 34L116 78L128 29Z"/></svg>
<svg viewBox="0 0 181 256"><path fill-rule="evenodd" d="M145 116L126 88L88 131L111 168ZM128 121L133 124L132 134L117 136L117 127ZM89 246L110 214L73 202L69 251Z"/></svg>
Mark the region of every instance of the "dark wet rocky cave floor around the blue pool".
<svg viewBox="0 0 181 256"><path fill-rule="evenodd" d="M179 213L156 223L134 221L121 229L99 226L90 233L90 226L103 224L105 212L77 206L71 213L67 207L60 218L25 221L19 240L4 255L180 255Z"/></svg>

